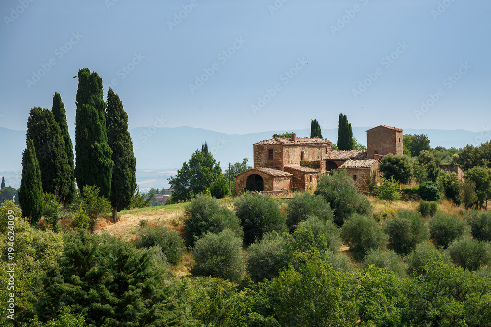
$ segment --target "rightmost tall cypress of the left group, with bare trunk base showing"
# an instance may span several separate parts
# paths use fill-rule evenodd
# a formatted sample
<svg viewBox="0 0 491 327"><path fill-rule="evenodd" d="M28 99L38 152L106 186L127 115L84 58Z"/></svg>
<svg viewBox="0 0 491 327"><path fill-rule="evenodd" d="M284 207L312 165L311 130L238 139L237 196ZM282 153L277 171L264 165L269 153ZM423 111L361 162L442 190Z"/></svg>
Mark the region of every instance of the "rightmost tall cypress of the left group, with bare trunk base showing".
<svg viewBox="0 0 491 327"><path fill-rule="evenodd" d="M123 110L119 96L111 88L107 103L106 129L114 161L109 201L112 205L112 218L117 221L117 212L130 205L133 197L136 187L136 158L128 132L128 115Z"/></svg>

